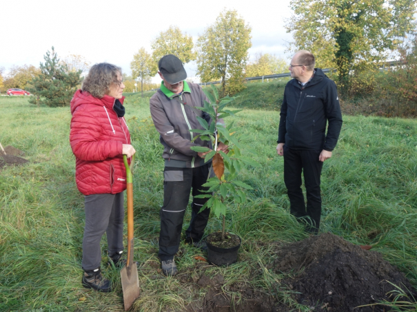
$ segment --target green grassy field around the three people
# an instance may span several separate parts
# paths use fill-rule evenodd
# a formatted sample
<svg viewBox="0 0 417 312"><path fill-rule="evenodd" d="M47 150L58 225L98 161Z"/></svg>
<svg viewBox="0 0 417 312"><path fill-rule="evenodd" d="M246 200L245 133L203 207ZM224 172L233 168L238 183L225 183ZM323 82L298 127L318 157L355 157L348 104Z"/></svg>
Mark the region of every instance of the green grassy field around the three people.
<svg viewBox="0 0 417 312"><path fill-rule="evenodd" d="M283 90L277 85L272 89L273 83L261 87ZM159 272L163 161L148 101L134 94L125 103L137 151L134 226L141 297L134 311L184 311L190 304L198 306L206 290ZM254 190L245 205L230 205L227 216L227 229L243 241L239 262L202 268L194 260L201 253L188 245L181 245L176 260L180 272L189 272L193 280L203 269L207 275L221 273L223 292L233 298L232 304L241 298L234 286L247 284L285 302L291 311L309 311L289 297L280 283L284 275L266 269L274 260L274 244L306 236L288 212L283 159L275 150L278 107L266 99L264 103L269 103L263 107L267 110L246 109L234 118L243 142L258 152L254 157L262 164L243 170L241 180ZM255 104L246 105L242 96L236 105ZM105 253L103 269L115 290L103 294L81 287L83 196L74 183L69 108L38 108L23 97L0 97L0 107L1 144L23 150L30 160L0 171L0 311L123 311L119 271L105 266ZM323 167L321 231L375 245L417 287L417 123L361 116L344 120L334 156ZM189 211L185 220L190 220ZM219 225L212 218L207 232ZM105 250L104 239L102 245Z"/></svg>

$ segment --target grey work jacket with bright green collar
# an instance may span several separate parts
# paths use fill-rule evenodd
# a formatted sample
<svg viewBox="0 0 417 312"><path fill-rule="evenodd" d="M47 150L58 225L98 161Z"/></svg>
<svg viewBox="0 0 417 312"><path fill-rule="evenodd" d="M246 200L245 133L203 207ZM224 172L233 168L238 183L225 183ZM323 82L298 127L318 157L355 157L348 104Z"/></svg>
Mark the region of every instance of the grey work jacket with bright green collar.
<svg viewBox="0 0 417 312"><path fill-rule="evenodd" d="M165 159L165 167L194 168L204 165L204 159L197 155L190 147L204 146L212 148L207 141L197 139L197 135L190 129L204 129L197 116L211 123L211 118L205 112L192 107L203 107L207 100L201 86L196 83L184 81L184 89L181 94L174 94L168 90L163 82L161 89L150 98L150 113L159 140L163 145L162 157Z"/></svg>

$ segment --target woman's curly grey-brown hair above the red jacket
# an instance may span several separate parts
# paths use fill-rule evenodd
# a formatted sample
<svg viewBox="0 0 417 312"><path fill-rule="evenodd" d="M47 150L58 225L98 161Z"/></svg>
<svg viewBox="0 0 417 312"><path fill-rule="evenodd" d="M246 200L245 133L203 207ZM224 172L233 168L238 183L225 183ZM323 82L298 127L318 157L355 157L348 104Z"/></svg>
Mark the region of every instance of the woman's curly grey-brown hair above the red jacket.
<svg viewBox="0 0 417 312"><path fill-rule="evenodd" d="M120 85L117 74L121 75L121 67L110 63L94 64L85 77L81 90L90 92L96 98L102 98L108 94L112 84Z"/></svg>

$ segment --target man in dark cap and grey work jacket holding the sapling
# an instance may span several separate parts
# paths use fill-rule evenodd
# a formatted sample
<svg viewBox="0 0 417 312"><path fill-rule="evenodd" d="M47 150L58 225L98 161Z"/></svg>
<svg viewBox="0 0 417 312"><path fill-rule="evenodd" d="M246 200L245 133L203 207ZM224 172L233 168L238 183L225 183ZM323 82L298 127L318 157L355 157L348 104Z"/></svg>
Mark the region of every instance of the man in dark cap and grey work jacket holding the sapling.
<svg viewBox="0 0 417 312"><path fill-rule="evenodd" d="M190 147L204 146L212 148L211 143L194 140L194 132L190 129L203 129L197 116L211 123L205 112L194 107L203 107L208 101L200 85L187 83L187 73L181 60L172 55L165 55L159 60L159 76L163 80L161 89L150 98L150 112L159 140L164 147L162 157L164 169L164 199L161 207L161 233L159 236L159 258L165 275L175 275L178 270L174 255L179 249L181 229L185 209L192 189L192 215L190 226L185 231L185 242L195 247L205 248L201 241L210 209L199 212L208 198L196 198L203 194L202 187L209 176L211 160L204 163L207 153L194 152ZM227 153L227 145L222 143L218 150Z"/></svg>

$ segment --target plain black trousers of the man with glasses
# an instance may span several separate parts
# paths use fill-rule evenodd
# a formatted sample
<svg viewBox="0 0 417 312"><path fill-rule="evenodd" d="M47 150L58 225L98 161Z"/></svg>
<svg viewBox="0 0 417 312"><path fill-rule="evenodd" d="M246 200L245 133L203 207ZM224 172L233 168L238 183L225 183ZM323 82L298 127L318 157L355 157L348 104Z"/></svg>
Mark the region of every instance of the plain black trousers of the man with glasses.
<svg viewBox="0 0 417 312"><path fill-rule="evenodd" d="M309 217L307 231L317 233L321 218L320 176L323 162L318 160L321 150L291 149L284 145L284 182L290 203L289 212L296 218ZM307 207L301 190L301 172L307 192Z"/></svg>

